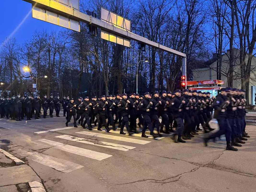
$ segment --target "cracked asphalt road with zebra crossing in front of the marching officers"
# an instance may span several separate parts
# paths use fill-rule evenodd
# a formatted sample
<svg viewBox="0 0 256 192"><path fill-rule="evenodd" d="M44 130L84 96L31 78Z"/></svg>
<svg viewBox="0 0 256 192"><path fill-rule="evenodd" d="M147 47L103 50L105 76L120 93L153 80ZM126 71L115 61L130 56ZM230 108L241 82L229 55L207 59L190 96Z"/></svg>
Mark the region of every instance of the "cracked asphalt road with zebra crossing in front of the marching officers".
<svg viewBox="0 0 256 192"><path fill-rule="evenodd" d="M203 133L176 144L169 135L68 128L64 117L1 119L0 142L10 143L0 147L33 168L48 192L255 192L255 126L247 126L251 138L238 152L226 151L225 140L204 147Z"/></svg>

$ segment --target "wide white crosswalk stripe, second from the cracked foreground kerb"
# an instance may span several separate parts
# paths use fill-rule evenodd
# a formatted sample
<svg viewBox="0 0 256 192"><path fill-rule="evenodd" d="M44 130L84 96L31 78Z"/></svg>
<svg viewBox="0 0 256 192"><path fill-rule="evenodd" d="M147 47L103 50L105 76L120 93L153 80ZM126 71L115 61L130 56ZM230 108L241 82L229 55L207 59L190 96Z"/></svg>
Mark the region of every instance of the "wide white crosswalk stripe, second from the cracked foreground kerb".
<svg viewBox="0 0 256 192"><path fill-rule="evenodd" d="M88 149L84 149L84 148L80 148L80 147L76 147L76 146L72 146L72 145L67 145L67 144L63 144L63 143L59 143L59 142L55 142L55 141L50 141L48 139L40 139L40 140L37 140L34 142L35 143L39 142L39 144L44 143L46 145L52 146L53 148L56 148L61 151L73 153L76 155L81 155L83 157L89 157L89 158L96 159L99 161L112 156L112 155L100 153L97 151L91 151Z"/></svg>

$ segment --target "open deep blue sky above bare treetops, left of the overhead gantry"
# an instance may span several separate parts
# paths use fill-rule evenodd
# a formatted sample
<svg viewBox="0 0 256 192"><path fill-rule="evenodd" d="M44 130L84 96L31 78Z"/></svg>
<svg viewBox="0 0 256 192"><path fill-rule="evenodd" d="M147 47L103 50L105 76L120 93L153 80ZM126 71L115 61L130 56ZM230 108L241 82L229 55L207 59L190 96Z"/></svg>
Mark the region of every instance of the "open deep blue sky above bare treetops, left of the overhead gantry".
<svg viewBox="0 0 256 192"><path fill-rule="evenodd" d="M46 29L47 31L65 30L54 24L50 24L38 19L32 18L31 8L32 5L22 0L0 0L2 7L2 19L0 27L0 45L9 37L16 27L20 25L23 19L24 23L12 35L16 38L17 42L21 43L26 39L30 39L35 30Z"/></svg>

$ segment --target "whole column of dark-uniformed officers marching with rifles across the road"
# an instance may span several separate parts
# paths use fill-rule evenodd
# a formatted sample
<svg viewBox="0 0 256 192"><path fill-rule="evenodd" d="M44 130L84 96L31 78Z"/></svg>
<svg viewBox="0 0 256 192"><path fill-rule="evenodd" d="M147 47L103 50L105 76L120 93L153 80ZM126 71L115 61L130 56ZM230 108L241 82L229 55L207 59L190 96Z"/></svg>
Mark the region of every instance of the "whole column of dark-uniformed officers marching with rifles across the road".
<svg viewBox="0 0 256 192"><path fill-rule="evenodd" d="M53 95L47 99L46 95L42 99L38 95L35 98L27 98L17 95L12 98L3 99L0 97L1 118L6 116L9 119L21 121L24 116L27 120L32 118L35 113L35 119L40 117L41 107L43 108L43 117L46 118L49 109L50 117L53 117L55 109L56 116L59 117L60 104L63 107L63 116L66 116L66 126L73 117L74 127L77 127L77 121L83 128L92 130L92 124L98 130L105 127L106 132L111 129L116 130L116 124L120 128L120 134L124 133L124 127L129 135L140 133L138 126L142 128L142 137L148 137L145 134L147 129L154 138L162 136L162 133L169 134L173 132L174 142L185 143L184 140L191 140L198 135L199 131L204 131L204 143L207 146L210 140L216 141L221 135L226 136L227 150L237 151L247 140L248 134L245 132L245 104L244 91L235 88L222 88L220 94L215 98L211 97L210 92L176 90L174 93L157 91L152 94L146 92L143 95L117 94L102 95L97 97L79 97L76 101L73 98L59 96L55 99ZM214 118L217 119L219 130L211 133L209 125L214 110ZM161 117L161 118L160 118ZM161 123L159 121L161 119ZM107 120L107 121L106 121ZM203 130L199 128L201 124ZM156 129L157 133L154 133ZM175 129L175 130L174 130Z"/></svg>

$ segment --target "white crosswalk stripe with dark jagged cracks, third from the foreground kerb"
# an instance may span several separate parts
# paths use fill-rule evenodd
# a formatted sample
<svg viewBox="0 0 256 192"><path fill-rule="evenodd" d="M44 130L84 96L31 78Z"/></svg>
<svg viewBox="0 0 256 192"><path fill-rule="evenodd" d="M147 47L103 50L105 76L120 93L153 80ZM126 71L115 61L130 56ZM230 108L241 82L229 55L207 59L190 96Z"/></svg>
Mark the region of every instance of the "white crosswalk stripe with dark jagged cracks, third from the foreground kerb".
<svg viewBox="0 0 256 192"><path fill-rule="evenodd" d="M96 145L96 146L100 146L100 147L117 149L117 150L121 150L121 151L129 151L130 149L136 148L136 147L127 146L127 145L119 145L119 144L108 143L108 142L104 142L104 141L95 141L95 140L90 140L90 139L85 139L85 138L80 138L80 137L73 137L70 135L60 135L60 136L56 136L56 137L70 140L70 141L76 141L79 143L86 143L89 145ZM83 141L83 140L86 140L86 141ZM94 142L96 142L96 143L94 143ZM97 143L99 143L99 144L97 144Z"/></svg>

